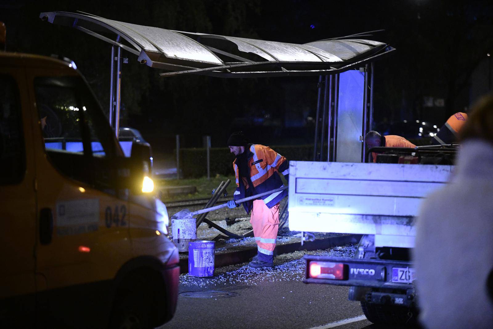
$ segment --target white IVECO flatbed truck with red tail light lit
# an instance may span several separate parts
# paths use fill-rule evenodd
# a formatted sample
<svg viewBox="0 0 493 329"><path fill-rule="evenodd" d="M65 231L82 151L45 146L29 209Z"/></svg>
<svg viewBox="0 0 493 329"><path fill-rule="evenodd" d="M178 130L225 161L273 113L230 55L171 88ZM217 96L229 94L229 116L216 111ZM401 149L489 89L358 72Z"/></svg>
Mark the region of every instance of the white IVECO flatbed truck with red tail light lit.
<svg viewBox="0 0 493 329"><path fill-rule="evenodd" d="M354 258L305 255L307 284L350 286L373 323L415 323L414 217L451 165L290 161L289 229L362 234Z"/></svg>

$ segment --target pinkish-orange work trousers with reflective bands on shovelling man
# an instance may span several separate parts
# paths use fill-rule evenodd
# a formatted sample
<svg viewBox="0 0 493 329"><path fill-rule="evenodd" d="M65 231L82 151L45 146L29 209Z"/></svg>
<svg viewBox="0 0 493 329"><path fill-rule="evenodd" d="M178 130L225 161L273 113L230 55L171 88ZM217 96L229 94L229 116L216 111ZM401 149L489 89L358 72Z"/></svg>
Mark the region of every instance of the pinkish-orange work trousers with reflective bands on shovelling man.
<svg viewBox="0 0 493 329"><path fill-rule="evenodd" d="M269 209L263 200L253 200L250 223L258 252L272 257L279 228L279 203Z"/></svg>

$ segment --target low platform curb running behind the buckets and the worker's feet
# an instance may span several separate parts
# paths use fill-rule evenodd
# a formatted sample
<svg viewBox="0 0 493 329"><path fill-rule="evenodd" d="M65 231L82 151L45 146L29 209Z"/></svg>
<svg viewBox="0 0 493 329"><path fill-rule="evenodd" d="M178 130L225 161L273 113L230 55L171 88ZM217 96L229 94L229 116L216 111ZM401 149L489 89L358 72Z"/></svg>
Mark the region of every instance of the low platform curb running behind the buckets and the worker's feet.
<svg viewBox="0 0 493 329"><path fill-rule="evenodd" d="M313 251L318 249L327 249L335 246L342 246L348 243L358 243L362 234L346 234L341 236L331 236L324 239L307 241L301 245L299 242L286 243L277 245L274 255L293 253L295 251ZM257 255L257 247L247 247L229 253L216 254L214 257L214 267L222 267L234 264L240 264L248 261L251 257ZM180 274L188 273L188 256L180 258Z"/></svg>

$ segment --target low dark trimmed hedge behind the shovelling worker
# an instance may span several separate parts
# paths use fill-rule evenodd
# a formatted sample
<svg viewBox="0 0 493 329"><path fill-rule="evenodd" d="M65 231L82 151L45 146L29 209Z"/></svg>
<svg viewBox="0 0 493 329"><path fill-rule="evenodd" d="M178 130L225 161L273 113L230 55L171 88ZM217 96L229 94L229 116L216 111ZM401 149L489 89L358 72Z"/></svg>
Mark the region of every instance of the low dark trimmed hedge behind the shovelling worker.
<svg viewBox="0 0 493 329"><path fill-rule="evenodd" d="M313 159L313 145L271 146L288 160L310 161ZM229 148L211 147L211 176L233 174L234 155ZM180 171L182 178L207 176L206 148L181 148Z"/></svg>

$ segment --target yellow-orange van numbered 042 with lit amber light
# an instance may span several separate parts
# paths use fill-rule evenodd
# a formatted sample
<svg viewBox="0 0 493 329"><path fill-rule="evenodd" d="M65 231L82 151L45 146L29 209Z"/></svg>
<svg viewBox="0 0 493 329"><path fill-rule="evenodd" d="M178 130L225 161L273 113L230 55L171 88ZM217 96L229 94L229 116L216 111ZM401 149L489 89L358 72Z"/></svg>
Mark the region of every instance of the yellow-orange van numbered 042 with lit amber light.
<svg viewBox="0 0 493 329"><path fill-rule="evenodd" d="M153 328L178 253L148 145L125 158L72 63L0 52L0 327Z"/></svg>

